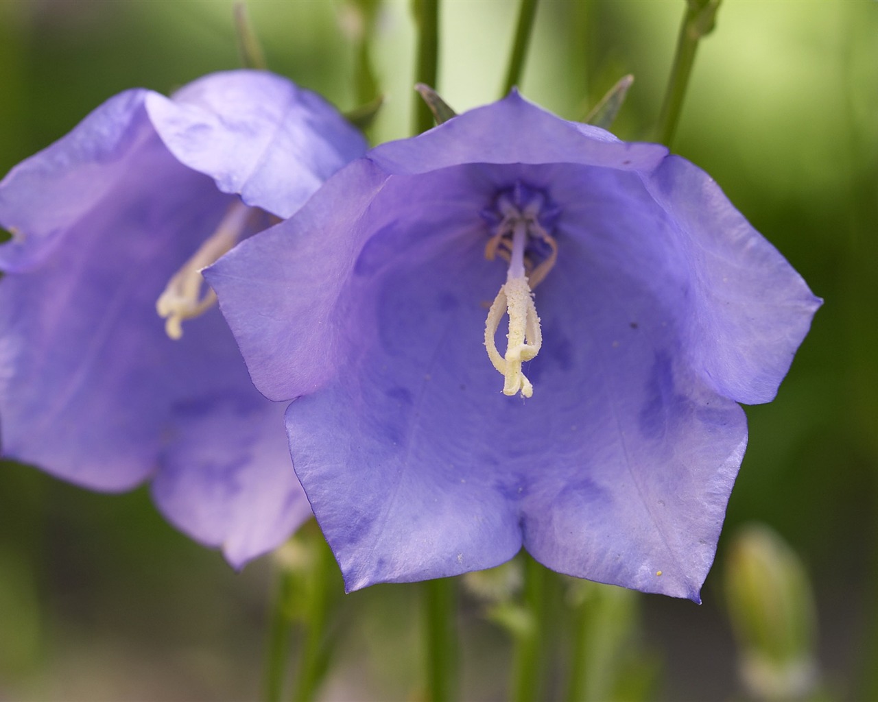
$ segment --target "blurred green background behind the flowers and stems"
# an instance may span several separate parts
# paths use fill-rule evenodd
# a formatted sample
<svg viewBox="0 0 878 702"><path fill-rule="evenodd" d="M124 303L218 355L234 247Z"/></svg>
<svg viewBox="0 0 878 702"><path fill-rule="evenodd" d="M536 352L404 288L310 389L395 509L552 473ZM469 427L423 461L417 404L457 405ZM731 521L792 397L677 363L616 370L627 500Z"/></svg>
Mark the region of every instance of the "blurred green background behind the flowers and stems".
<svg viewBox="0 0 878 702"><path fill-rule="evenodd" d="M457 111L499 97L516 8L443 3L438 88ZM522 92L582 118L633 74L614 131L650 139L683 9L682 0L543 0ZM249 10L270 68L356 107L351 5ZM709 171L826 302L779 397L747 410L750 445L704 604L629 603L629 673L644 684L623 698L747 698L724 583L730 541L758 521L794 549L816 593L816 694L878 699L876 37L873 0L726 0L698 50L674 150ZM386 0L370 48L388 98L375 143L409 133L413 49L408 3ZM121 90L169 92L238 66L224 0L2 0L0 171ZM256 698L276 569L263 558L234 572L165 524L145 489L95 494L3 463L0 700ZM340 598L325 698L418 698L417 587ZM505 698L507 635L472 595L459 622L462 697Z"/></svg>

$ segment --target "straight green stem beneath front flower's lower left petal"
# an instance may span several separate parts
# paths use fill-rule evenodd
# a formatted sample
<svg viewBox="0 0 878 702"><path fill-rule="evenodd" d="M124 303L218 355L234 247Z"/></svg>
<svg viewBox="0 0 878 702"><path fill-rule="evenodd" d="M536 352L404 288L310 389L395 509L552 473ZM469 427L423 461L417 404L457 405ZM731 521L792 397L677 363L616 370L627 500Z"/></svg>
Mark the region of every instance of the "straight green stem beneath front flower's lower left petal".
<svg viewBox="0 0 878 702"><path fill-rule="evenodd" d="M427 698L457 698L457 582L450 577L424 584L427 632Z"/></svg>

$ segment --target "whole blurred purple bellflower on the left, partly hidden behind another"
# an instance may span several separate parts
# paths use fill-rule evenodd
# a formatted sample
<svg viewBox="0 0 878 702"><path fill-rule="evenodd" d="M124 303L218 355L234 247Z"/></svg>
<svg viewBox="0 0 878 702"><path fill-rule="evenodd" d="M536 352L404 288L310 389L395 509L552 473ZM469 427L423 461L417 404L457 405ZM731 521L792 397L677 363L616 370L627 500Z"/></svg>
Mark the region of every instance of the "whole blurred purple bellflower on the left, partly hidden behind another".
<svg viewBox="0 0 878 702"><path fill-rule="evenodd" d="M364 151L322 98L240 70L123 92L13 168L4 456L99 491L152 477L167 519L236 567L284 541L311 514L284 407L253 388L198 269Z"/></svg>

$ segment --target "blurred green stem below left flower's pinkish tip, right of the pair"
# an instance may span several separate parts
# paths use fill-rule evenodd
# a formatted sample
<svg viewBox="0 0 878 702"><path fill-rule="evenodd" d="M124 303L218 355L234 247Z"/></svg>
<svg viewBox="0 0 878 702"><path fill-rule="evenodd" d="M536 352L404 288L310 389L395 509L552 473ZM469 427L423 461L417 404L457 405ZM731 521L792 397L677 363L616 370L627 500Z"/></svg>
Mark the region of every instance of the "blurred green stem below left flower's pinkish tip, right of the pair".
<svg viewBox="0 0 878 702"><path fill-rule="evenodd" d="M293 702L308 702L317 692L327 670L329 646L327 621L331 605L332 569L335 561L322 537L315 545L313 569L308 583L307 620L302 627L299 674L293 686Z"/></svg>

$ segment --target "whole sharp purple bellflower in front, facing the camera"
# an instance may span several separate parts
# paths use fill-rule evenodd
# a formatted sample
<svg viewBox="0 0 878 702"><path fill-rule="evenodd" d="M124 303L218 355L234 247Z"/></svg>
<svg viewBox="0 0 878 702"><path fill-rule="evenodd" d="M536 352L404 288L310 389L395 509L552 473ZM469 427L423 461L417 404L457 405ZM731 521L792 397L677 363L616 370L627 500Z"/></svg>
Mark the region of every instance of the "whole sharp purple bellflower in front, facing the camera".
<svg viewBox="0 0 878 702"><path fill-rule="evenodd" d="M371 150L205 276L256 386L295 399L351 590L523 545L698 601L738 402L774 398L820 304L702 170L515 92Z"/></svg>

